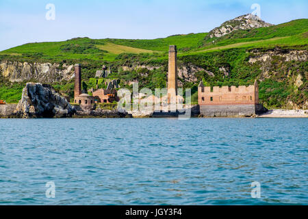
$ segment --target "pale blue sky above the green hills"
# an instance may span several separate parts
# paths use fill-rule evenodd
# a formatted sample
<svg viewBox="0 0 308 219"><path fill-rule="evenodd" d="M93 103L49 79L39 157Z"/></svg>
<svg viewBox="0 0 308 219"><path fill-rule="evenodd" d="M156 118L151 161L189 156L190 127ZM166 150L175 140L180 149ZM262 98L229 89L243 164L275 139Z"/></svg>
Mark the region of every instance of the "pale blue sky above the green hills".
<svg viewBox="0 0 308 219"><path fill-rule="evenodd" d="M55 5L55 20L45 9ZM307 0L0 0L0 51L27 42L75 37L161 38L210 31L224 21L253 12L273 24L308 18Z"/></svg>

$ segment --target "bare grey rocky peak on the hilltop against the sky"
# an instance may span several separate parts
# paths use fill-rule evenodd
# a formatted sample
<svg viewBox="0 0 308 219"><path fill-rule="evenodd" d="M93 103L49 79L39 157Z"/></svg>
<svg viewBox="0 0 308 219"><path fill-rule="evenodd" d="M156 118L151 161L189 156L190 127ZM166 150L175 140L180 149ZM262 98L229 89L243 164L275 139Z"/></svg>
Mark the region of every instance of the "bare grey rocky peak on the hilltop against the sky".
<svg viewBox="0 0 308 219"><path fill-rule="evenodd" d="M266 23L261 20L256 15L253 14L245 14L242 16L238 16L230 21L226 21L220 25L220 27L216 27L209 31L209 38L218 38L224 36L226 34L230 34L231 32L239 29L253 29L258 27L270 27L272 26L270 23Z"/></svg>

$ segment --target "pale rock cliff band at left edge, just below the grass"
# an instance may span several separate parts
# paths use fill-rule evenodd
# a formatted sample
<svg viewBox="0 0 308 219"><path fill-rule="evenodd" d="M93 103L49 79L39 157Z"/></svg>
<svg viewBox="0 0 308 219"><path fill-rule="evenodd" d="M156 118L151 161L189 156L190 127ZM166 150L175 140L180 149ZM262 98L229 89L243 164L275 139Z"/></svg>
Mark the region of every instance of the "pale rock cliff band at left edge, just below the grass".
<svg viewBox="0 0 308 219"><path fill-rule="evenodd" d="M38 81L53 83L70 80L74 75L74 66L51 63L0 62L0 74L11 82Z"/></svg>

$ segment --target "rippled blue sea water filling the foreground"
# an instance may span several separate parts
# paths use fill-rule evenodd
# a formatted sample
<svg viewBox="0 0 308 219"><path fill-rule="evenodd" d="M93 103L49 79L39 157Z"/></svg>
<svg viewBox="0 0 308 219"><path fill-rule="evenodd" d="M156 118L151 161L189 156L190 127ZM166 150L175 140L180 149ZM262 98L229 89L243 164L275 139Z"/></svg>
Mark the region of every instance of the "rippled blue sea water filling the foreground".
<svg viewBox="0 0 308 219"><path fill-rule="evenodd" d="M307 205L307 122L1 119L0 205Z"/></svg>

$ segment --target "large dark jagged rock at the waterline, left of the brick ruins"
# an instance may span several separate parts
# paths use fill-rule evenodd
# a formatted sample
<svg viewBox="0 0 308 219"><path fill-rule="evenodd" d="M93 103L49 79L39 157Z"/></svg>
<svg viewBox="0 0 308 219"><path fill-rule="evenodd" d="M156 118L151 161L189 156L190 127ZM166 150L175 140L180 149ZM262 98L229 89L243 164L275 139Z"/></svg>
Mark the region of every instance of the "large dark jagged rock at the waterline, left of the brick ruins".
<svg viewBox="0 0 308 219"><path fill-rule="evenodd" d="M68 101L49 85L27 83L16 114L21 118L64 118L75 113Z"/></svg>

